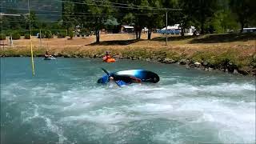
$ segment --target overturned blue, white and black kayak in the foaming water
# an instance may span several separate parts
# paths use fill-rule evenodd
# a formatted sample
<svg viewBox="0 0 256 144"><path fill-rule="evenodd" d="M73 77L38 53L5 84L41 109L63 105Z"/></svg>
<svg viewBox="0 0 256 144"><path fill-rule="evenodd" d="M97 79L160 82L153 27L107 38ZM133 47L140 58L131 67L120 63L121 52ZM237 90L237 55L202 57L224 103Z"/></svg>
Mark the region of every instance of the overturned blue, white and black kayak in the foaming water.
<svg viewBox="0 0 256 144"><path fill-rule="evenodd" d="M110 77L113 77L116 83L122 82L126 84L138 82L157 83L160 80L158 74L149 70L123 70L103 75L102 78L98 79L98 83L110 82Z"/></svg>

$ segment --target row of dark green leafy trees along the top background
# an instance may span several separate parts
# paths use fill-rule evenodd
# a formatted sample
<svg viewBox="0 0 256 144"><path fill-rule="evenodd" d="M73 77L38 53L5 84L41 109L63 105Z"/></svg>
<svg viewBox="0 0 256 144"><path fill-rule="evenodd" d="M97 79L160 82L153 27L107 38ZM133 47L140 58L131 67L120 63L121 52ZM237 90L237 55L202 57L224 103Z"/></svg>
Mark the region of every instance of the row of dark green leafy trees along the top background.
<svg viewBox="0 0 256 144"><path fill-rule="evenodd" d="M256 26L255 0L63 0L62 15L58 22L39 21L37 11L30 16L2 17L2 30L54 29L73 34L76 26L94 31L99 42L99 30L116 29L120 25L134 26L136 38L141 37L143 27L148 28L148 39L155 28L179 23L182 36L185 29L195 26L200 34L242 32L244 27ZM18 10L10 10L18 13ZM49 14L49 12L47 13ZM47 16L47 15L46 15ZM50 14L47 16L52 17ZM74 34L73 34L74 36Z"/></svg>

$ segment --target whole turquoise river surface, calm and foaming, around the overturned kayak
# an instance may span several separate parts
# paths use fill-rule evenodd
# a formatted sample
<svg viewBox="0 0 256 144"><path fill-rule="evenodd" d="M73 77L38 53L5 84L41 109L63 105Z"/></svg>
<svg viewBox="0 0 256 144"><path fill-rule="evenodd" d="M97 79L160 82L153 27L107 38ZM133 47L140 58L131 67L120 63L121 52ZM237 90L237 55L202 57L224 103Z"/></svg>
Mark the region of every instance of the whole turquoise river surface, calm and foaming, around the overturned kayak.
<svg viewBox="0 0 256 144"><path fill-rule="evenodd" d="M102 86L106 70L157 84ZM255 81L175 64L1 58L1 143L255 142Z"/></svg>

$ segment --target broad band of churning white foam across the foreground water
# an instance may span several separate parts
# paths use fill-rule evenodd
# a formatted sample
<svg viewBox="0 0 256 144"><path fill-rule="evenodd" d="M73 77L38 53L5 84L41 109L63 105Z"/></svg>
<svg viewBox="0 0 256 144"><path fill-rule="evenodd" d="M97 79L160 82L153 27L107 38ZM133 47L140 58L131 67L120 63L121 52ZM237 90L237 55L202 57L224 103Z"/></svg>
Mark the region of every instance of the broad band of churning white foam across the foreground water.
<svg viewBox="0 0 256 144"><path fill-rule="evenodd" d="M27 97L13 94L14 87L26 92ZM130 122L153 118L182 122L196 132L191 134L194 138L203 133L196 127L200 125L209 131L218 130L221 142L255 142L255 86L249 82L208 86L191 83L166 86L133 84L123 88L115 85L111 87L74 84L63 91L58 91L54 83L31 89L19 82L5 86L2 90L5 101L8 98L11 101L20 101L18 98L24 97L25 100L36 102L37 105L31 103L32 107L28 105L22 110L22 122L43 118L48 130L58 134L58 143L68 141L68 136L63 136L64 130L58 124L82 128L86 122L91 122L98 126L95 128L98 128L98 131L95 130L94 134L97 137L98 132L98 138L101 138L102 129L110 129L111 134L122 130L123 126L129 126ZM233 98L236 95L241 98ZM244 100L243 97L249 99ZM46 101L38 101L41 98ZM43 110L46 110L45 113L56 110L49 114L57 115L46 117L41 113ZM183 134L188 133L175 130L166 124L166 130L155 131L152 139L156 143L182 143Z"/></svg>

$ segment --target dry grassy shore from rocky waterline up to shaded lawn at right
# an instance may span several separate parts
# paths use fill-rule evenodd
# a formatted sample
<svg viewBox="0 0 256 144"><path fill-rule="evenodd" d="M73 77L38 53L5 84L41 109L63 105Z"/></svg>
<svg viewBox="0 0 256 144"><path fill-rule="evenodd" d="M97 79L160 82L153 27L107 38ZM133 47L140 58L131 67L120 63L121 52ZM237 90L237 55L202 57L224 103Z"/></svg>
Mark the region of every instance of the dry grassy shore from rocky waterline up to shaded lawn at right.
<svg viewBox="0 0 256 144"><path fill-rule="evenodd" d="M256 75L255 34L170 37L168 46L164 45L164 39L106 40L97 44L88 42L66 46L35 45L34 56L43 57L45 51L49 50L55 57L102 58L106 51L110 51L112 57L117 59L178 63L187 68L206 71L222 70L232 74ZM0 57L30 57L30 46L7 46L4 50L1 48Z"/></svg>

